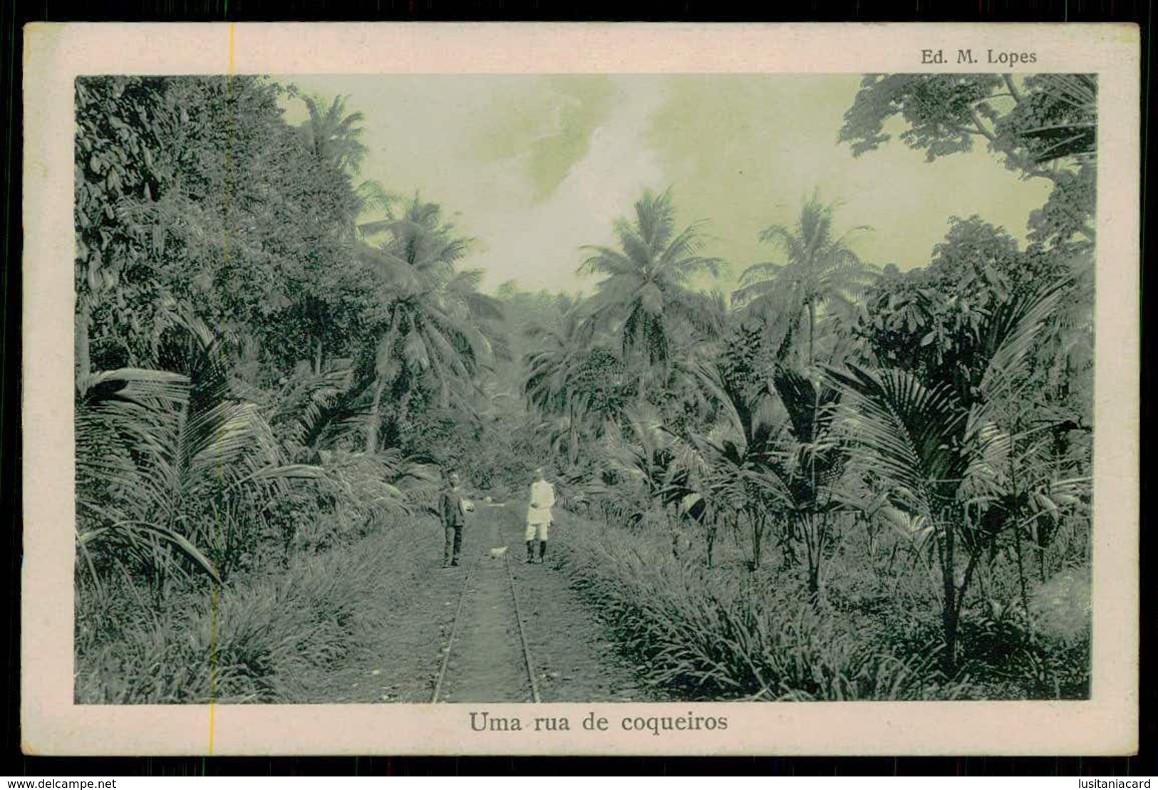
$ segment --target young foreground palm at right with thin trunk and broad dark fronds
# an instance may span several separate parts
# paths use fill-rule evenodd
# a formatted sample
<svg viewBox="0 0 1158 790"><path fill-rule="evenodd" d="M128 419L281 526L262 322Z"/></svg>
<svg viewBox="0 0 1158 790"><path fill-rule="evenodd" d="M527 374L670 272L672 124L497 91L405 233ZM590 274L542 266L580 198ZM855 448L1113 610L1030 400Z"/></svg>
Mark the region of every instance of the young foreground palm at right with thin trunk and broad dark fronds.
<svg viewBox="0 0 1158 790"><path fill-rule="evenodd" d="M994 306L963 363L976 386L926 382L901 370L827 370L842 389L859 466L882 482L892 509L930 531L941 579L946 674L957 668L961 604L988 546L981 533L987 510L1006 507L999 482L1012 438L998 427L1001 410L1029 346L1057 307L1062 285L1010 294ZM1017 527L1016 512L1012 520ZM963 570L958 539L965 547Z"/></svg>

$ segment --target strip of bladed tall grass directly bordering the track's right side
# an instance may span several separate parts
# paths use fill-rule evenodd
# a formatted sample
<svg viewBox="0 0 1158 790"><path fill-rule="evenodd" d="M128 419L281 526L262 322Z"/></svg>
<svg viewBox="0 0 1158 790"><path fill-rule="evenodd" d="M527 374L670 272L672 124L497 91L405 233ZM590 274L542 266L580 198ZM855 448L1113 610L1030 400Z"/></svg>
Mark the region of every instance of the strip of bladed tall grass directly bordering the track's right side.
<svg viewBox="0 0 1158 790"><path fill-rule="evenodd" d="M903 654L835 616L790 575L676 559L665 536L584 525L565 562L643 676L689 698L941 700L933 650Z"/></svg>

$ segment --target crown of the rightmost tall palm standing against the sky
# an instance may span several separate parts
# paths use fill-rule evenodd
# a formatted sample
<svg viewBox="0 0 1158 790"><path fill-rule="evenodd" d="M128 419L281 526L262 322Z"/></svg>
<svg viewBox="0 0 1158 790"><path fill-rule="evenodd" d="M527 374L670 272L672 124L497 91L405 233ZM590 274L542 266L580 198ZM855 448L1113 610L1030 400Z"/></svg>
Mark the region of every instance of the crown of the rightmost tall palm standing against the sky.
<svg viewBox="0 0 1158 790"><path fill-rule="evenodd" d="M733 303L763 316L785 343L793 343L807 329L805 365L809 368L815 363L818 313L852 310L875 271L848 247L849 235L863 228L835 235L833 210L814 192L794 228L772 225L762 231L760 240L778 244L786 262L749 266L741 276L742 286L732 294Z"/></svg>

